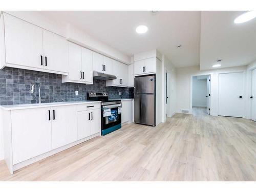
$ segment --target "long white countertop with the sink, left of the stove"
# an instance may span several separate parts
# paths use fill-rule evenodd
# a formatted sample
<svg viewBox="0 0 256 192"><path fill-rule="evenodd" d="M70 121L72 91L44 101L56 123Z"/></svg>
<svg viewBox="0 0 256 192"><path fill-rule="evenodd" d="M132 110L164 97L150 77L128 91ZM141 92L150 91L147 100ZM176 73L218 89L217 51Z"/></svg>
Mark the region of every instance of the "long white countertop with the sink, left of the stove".
<svg viewBox="0 0 256 192"><path fill-rule="evenodd" d="M31 108L46 108L49 106L62 106L62 105L74 105L74 104L89 104L100 103L101 101L69 101L69 102L51 102L51 103L35 103L35 104L10 104L0 105L3 110L22 110Z"/></svg>

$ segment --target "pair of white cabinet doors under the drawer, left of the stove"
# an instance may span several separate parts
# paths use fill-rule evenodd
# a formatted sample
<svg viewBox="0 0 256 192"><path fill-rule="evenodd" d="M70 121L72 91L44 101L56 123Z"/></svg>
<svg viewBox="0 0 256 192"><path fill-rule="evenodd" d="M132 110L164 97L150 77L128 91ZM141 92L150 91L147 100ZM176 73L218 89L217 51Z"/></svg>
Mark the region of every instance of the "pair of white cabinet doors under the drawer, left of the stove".
<svg viewBox="0 0 256 192"><path fill-rule="evenodd" d="M79 111L78 119L78 139L88 137L101 131L100 109Z"/></svg>

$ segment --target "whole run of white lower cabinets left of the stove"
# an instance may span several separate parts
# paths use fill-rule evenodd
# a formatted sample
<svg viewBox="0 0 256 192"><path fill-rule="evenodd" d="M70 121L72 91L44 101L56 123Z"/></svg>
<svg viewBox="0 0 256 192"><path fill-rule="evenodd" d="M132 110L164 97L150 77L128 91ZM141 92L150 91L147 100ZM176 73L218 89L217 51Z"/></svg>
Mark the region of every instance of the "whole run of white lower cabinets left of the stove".
<svg viewBox="0 0 256 192"><path fill-rule="evenodd" d="M0 108L1 110L1 108ZM2 110L5 161L17 170L99 136L100 102Z"/></svg>

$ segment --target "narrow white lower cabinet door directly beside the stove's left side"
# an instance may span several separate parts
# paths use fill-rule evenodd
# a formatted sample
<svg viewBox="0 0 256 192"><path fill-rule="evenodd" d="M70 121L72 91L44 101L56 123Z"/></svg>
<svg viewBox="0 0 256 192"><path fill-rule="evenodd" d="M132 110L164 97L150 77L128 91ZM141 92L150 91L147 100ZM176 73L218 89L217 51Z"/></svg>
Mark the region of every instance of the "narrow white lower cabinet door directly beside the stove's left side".
<svg viewBox="0 0 256 192"><path fill-rule="evenodd" d="M91 110L91 135L101 132L101 112L100 109Z"/></svg>

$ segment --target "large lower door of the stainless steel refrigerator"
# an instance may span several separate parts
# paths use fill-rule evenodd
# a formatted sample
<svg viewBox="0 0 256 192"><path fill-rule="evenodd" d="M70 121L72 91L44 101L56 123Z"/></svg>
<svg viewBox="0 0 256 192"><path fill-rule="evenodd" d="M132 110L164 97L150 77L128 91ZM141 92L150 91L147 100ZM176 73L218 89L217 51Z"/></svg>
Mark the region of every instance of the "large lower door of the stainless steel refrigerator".
<svg viewBox="0 0 256 192"><path fill-rule="evenodd" d="M134 122L147 125L156 125L155 122L155 95L134 95Z"/></svg>

